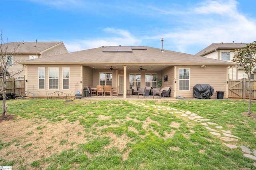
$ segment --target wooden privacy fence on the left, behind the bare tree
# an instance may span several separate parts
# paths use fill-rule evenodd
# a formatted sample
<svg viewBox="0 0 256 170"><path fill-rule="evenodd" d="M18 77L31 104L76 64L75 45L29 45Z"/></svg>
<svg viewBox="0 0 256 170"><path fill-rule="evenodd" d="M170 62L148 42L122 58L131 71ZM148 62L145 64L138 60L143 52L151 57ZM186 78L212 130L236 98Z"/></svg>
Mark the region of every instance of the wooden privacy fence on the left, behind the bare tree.
<svg viewBox="0 0 256 170"><path fill-rule="evenodd" d="M0 80L0 87L2 87L2 80ZM7 82L6 93L21 93L25 91L25 79L10 79Z"/></svg>

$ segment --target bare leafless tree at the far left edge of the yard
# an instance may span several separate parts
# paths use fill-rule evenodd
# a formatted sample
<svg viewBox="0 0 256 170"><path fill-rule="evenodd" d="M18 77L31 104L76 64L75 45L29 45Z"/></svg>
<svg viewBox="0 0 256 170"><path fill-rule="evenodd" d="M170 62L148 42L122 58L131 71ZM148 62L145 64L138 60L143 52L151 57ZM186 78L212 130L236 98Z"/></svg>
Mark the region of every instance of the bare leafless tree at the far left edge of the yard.
<svg viewBox="0 0 256 170"><path fill-rule="evenodd" d="M2 116L5 116L6 113L6 89L8 80L10 78L14 78L17 74L24 70L11 70L10 67L18 64L19 61L14 59L14 56L17 54L16 50L20 46L21 43L8 43L8 38L6 37L6 43L4 43L4 38L2 37L2 30L0 29L0 94L2 94L3 102L2 102Z"/></svg>

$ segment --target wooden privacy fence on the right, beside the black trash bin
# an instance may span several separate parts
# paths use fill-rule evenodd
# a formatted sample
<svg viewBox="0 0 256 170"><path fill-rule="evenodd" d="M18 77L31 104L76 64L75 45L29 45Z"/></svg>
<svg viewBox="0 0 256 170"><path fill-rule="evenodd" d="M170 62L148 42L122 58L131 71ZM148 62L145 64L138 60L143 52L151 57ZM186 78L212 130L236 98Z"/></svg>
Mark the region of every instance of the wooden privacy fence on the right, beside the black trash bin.
<svg viewBox="0 0 256 170"><path fill-rule="evenodd" d="M256 82L251 82L252 88L252 99L256 99ZM249 98L249 80L242 78L240 80L229 80L228 81L228 98Z"/></svg>

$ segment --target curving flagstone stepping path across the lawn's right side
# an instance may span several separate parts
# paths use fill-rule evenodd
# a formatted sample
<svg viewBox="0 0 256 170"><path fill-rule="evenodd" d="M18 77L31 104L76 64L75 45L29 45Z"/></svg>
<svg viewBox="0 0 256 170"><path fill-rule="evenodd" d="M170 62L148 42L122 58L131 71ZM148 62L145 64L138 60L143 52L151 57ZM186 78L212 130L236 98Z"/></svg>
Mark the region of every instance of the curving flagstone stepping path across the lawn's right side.
<svg viewBox="0 0 256 170"><path fill-rule="evenodd" d="M209 127L208 125L218 125L217 123L214 122L210 122L210 119L204 119L203 117L197 115L196 113L191 113L190 111L184 111L184 110L178 110L175 108L170 108L170 107L166 107L166 106L156 106L156 105L146 105L140 102L136 102L136 101L129 101L131 104L137 105L137 106L142 106L144 105L144 107L153 107L156 108L157 110L163 110L163 111L170 111L170 114L181 114L181 117L188 117L188 119L192 120L192 121L197 121L197 122L201 122L201 125L203 125L204 127L206 127L206 129L208 129L210 131L210 133L212 135L217 136L219 139L223 140L223 141L228 141L228 142L236 142L238 141L238 139L241 139L240 137L237 137L235 135L232 135L230 130L222 130L222 126L215 126L215 128L219 129L212 129L211 127ZM203 122L202 122L203 121ZM207 122L204 122L207 121ZM226 145L228 148L230 149L236 149L238 148L238 146L236 145L231 145L231 144L227 144L224 143L224 145ZM253 150L253 152L245 147L245 146L240 146L240 148L242 149L242 152L244 152L243 156L246 158L250 158L252 160L256 160L256 149ZM254 163L254 166L256 166L256 163Z"/></svg>

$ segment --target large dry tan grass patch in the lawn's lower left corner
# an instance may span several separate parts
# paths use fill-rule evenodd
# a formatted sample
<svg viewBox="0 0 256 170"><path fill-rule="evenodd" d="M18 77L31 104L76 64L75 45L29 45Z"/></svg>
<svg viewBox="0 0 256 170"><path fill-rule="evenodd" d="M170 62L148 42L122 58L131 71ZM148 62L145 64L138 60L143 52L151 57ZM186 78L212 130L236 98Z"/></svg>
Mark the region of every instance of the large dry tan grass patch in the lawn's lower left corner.
<svg viewBox="0 0 256 170"><path fill-rule="evenodd" d="M78 132L82 135L78 136ZM65 120L54 124L46 121L38 124L32 119L3 121L1 137L5 143L12 144L1 150L1 154L6 160L22 158L24 164L31 164L34 160L47 158L65 149L75 149L76 144L86 143L83 133L84 128L78 121L69 123ZM61 145L63 141L66 142Z"/></svg>

